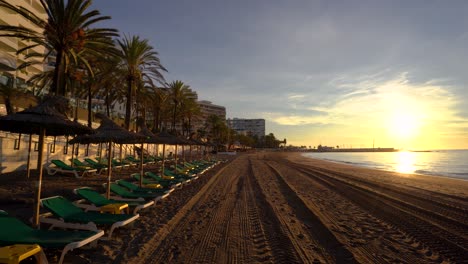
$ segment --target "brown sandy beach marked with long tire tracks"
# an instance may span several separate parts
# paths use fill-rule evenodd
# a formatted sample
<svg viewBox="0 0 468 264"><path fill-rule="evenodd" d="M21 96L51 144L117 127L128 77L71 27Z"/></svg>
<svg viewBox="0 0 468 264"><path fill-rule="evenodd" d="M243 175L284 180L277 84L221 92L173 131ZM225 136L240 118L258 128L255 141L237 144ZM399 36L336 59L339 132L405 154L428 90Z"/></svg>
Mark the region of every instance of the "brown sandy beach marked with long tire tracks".
<svg viewBox="0 0 468 264"><path fill-rule="evenodd" d="M467 261L468 181L358 168L299 153L228 158L141 211L138 222L117 230L113 240L70 252L65 262ZM28 221L34 184L24 175L0 175L0 209ZM104 181L46 175L42 196L77 199L73 188L102 188ZM46 254L53 262L57 252Z"/></svg>

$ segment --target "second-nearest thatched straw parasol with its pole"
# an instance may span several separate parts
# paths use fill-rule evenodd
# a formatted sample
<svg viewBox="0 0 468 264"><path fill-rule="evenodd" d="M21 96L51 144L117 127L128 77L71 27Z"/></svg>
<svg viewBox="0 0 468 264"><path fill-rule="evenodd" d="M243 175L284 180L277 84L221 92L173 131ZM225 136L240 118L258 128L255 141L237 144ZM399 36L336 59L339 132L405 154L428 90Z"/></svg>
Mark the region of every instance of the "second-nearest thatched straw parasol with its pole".
<svg viewBox="0 0 468 264"><path fill-rule="evenodd" d="M106 196L110 197L110 183L112 175L112 143L118 144L134 144L142 142L145 137L137 133L129 132L116 123L110 120L106 115L97 113L96 118L101 119L101 125L95 130L92 135L77 136L70 140L70 144L82 143L108 143L107 157L107 192Z"/></svg>

